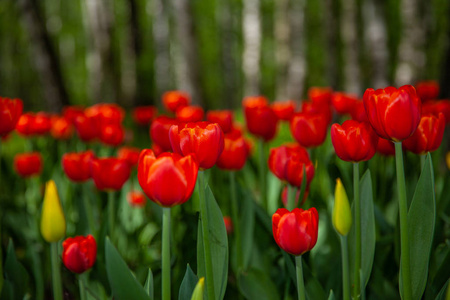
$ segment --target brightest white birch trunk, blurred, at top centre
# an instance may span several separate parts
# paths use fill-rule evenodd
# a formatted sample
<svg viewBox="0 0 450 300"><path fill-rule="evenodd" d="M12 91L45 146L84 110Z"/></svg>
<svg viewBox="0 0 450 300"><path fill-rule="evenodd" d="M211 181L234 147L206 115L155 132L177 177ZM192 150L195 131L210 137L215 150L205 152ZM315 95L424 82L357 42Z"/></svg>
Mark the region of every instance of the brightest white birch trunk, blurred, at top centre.
<svg viewBox="0 0 450 300"><path fill-rule="evenodd" d="M244 96L260 93L260 57L261 57L261 16L260 1L246 0L243 3L242 31L244 34L244 52L242 67L244 71Z"/></svg>

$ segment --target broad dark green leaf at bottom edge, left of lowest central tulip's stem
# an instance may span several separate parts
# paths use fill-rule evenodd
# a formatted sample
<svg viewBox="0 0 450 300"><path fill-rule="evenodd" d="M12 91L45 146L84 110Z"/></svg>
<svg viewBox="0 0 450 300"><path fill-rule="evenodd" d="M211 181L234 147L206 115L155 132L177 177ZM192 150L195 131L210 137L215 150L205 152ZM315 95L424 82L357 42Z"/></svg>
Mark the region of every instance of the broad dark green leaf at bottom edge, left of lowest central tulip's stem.
<svg viewBox="0 0 450 300"><path fill-rule="evenodd" d="M278 291L268 274L257 269L238 275L238 287L247 299L280 299Z"/></svg>

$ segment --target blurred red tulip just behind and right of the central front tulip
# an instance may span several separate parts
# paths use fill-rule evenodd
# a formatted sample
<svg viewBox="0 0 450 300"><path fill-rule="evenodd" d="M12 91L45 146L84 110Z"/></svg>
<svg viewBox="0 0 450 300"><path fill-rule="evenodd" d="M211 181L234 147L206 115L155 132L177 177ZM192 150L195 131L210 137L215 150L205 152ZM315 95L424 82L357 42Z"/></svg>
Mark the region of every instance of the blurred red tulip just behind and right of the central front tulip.
<svg viewBox="0 0 450 300"><path fill-rule="evenodd" d="M249 149L244 137L238 131L225 134L222 154L217 167L224 170L240 170L244 167Z"/></svg>

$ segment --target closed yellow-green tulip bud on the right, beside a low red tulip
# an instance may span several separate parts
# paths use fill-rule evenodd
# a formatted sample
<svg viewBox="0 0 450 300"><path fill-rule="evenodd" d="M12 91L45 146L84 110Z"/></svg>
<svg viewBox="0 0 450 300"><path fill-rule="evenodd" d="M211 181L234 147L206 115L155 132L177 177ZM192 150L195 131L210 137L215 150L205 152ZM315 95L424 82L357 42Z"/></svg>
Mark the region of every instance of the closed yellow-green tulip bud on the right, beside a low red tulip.
<svg viewBox="0 0 450 300"><path fill-rule="evenodd" d="M333 226L340 235L347 235L352 226L352 211L341 179L336 180L334 191Z"/></svg>

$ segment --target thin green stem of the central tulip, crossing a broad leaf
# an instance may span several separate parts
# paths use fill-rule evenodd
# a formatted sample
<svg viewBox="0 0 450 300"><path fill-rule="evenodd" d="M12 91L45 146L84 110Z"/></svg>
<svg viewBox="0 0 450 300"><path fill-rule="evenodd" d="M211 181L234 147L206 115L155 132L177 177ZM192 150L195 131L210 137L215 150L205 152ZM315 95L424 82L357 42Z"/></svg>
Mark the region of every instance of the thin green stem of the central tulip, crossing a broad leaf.
<svg viewBox="0 0 450 300"><path fill-rule="evenodd" d="M200 215L202 222L202 234L203 234L203 250L205 254L205 269L206 269L206 291L208 299L215 299L216 294L214 291L214 275L212 270L211 248L209 241L209 222L206 209L205 200L205 174L204 171L198 171L198 191L200 198Z"/></svg>

